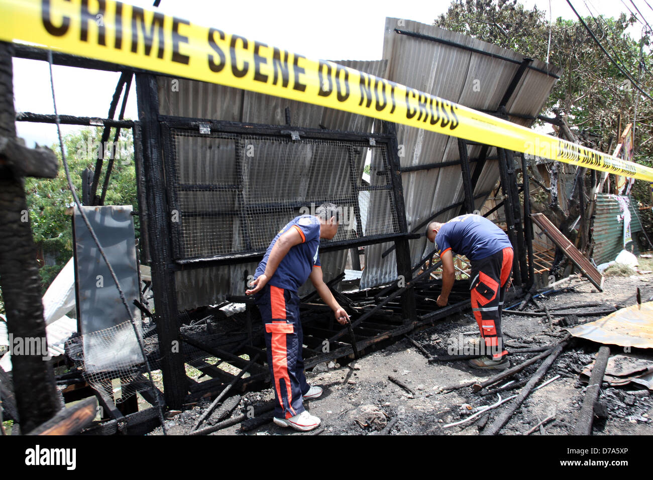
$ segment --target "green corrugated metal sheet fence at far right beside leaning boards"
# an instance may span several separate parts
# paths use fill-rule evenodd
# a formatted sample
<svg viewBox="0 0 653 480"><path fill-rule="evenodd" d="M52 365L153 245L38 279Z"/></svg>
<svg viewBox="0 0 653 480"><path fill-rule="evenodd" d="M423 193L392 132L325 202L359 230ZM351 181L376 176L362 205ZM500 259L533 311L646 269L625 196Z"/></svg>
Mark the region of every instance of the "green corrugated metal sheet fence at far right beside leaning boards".
<svg viewBox="0 0 653 480"><path fill-rule="evenodd" d="M642 231L642 224L639 221L633 202L629 197L630 210L630 232ZM617 195L608 193L597 193L596 195L596 217L592 226L592 239L594 250L592 258L596 264L613 261L622 249L624 249L624 221L621 220L622 210L617 200ZM633 246L635 253L639 253L637 242L629 242L627 249Z"/></svg>

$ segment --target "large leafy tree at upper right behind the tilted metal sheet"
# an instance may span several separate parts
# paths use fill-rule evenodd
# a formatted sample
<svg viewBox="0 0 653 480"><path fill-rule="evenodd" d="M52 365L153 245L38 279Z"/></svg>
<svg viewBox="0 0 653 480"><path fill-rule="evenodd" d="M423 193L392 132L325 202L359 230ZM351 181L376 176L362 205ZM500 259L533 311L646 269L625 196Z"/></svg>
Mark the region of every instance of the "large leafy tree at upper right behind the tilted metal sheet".
<svg viewBox="0 0 653 480"><path fill-rule="evenodd" d="M622 70L653 97L652 32L643 29L639 40L626 32L637 18L589 16L584 21ZM584 143L613 153L621 129L635 120L635 161L650 165L653 158L653 101L633 88L631 81L603 53L577 20L557 18L549 25L545 11L524 8L517 0L455 0L434 25L516 50L526 57L547 59L564 68L545 110L559 112L577 127ZM550 49L549 49L550 33ZM637 108L637 110L635 110ZM648 184L637 181L633 195L650 205ZM642 218L653 232L650 210Z"/></svg>

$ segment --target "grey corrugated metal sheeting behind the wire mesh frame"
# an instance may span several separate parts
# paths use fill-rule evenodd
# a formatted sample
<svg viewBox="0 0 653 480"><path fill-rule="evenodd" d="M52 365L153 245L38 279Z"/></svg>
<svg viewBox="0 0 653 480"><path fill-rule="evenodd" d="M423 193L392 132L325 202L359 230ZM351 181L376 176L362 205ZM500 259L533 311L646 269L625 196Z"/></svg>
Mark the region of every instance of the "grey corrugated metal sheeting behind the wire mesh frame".
<svg viewBox="0 0 653 480"><path fill-rule="evenodd" d="M383 77L386 75L387 61L338 61L337 63L375 76ZM340 110L332 110L312 104L289 101L270 95L194 80L159 76L157 82L159 86L159 113L165 116L285 125L287 123L285 109L288 107L291 125L295 127L371 132L374 123L372 118ZM212 137L214 135L207 137L179 135L176 138L175 148L179 157L176 163L176 172L178 174L176 181L179 184L219 183L227 185L236 183L235 174L237 168L234 161L231 160L225 163L223 160L225 158L235 158L233 154L234 142L229 139L217 140ZM302 152L304 153L293 154L293 165L275 166L269 165L268 161L262 163L261 161L247 161L247 158L245 158L242 167L244 176L242 195L248 202L254 198L257 199L257 202L274 202L278 200L302 202L306 200L306 191L310 191L313 195L320 192L326 195L328 192L330 197L333 195L346 197L352 193L349 184L351 168L345 161L346 155L340 155L342 161L336 162L341 168L331 168L327 171L315 168L315 159L319 159L327 153L324 146L311 144L302 144L299 147L297 144L283 146L274 142L257 142L255 139L251 139L249 144L251 144L253 152L257 153L257 158L270 159L270 161L279 158L279 155L283 153L279 149L283 148L295 148L295 150L300 148L303 149ZM374 151L374 149L372 150ZM338 151L337 148L336 151ZM334 148L330 148L329 152L333 153ZM359 146L355 148L354 155L355 169L357 170L355 175L360 182L364 163L368 156L368 149ZM219 163L214 161L217 156L221 159ZM372 156L374 157L374 155ZM179 201L184 210L196 210L202 205L204 207L215 206L218 201L224 204L227 199L231 198L230 195L233 197L234 202L238 201L235 189L220 191L219 193L183 191ZM372 197L379 197L378 202L383 204L383 210L387 211L389 208L388 200L387 198L381 198L383 195L381 192L372 192ZM324 200L327 200L327 198ZM266 225L270 224L268 225L269 229L266 227L263 232L249 232L249 237L255 239L255 243L258 242L256 245L252 245L252 248L261 246L263 246L263 249L266 248L276 231L296 214L298 214L298 208L293 206L293 208L288 209L283 218L270 218L269 215L261 217L260 221L263 221ZM211 228L210 224L215 223L215 220L190 219L186 230L189 234L193 234L194 237L188 238L188 242L182 243L192 246L194 250L185 253L188 253L191 257L201 257L216 253L216 248L220 249L220 251L225 249L227 249L226 251L242 250L244 244L241 238L239 220L232 217L228 219L228 225L225 225L224 219L218 220L218 223L223 225L224 232L218 235L221 240L224 240L223 244L221 242L216 244L206 235L206 229ZM191 225L193 222L195 222L195 225ZM368 223L368 225L377 226L379 224L380 222ZM213 227L217 229L217 225L213 225ZM380 231L381 229L376 230ZM366 232L366 234L370 234L370 232ZM354 232L351 229L340 229L335 240L352 238L352 236L354 236ZM320 258L325 280L330 280L345 268L347 250L325 252L321 254ZM176 272L178 308L186 310L219 302L224 300L226 295L242 295L245 285L244 272L247 270L248 274L253 274L256 266L257 263L241 263L231 266L209 266ZM310 287L304 287L300 290L300 293L305 293L308 289Z"/></svg>

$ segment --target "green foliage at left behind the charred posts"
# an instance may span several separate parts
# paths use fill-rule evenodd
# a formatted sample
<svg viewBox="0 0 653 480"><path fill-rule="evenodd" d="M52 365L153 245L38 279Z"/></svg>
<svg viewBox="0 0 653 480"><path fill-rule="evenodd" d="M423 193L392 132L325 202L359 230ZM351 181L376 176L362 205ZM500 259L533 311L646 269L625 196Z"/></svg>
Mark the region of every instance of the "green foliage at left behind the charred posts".
<svg viewBox="0 0 653 480"><path fill-rule="evenodd" d="M110 139L115 135L112 129ZM66 160L71 172L72 184L78 197L82 199L82 171L85 168L95 168L95 159L101 152L99 141L102 128L81 129L76 133L66 135L63 143ZM136 172L133 159L133 139L130 130L121 130L119 148L111 172L105 205L136 205ZM27 178L25 180L25 197L29 209L34 242L37 248L56 257L56 266L46 266L40 269L43 290L54 280L63 265L72 256L72 217L67 210L72 207L72 193L61 163L61 152L58 144L52 146L59 158L59 174L57 178L46 180L42 178ZM104 154L107 158L108 155ZM106 172L108 159L103 162L103 174ZM97 195L100 195L104 178L100 179ZM68 212L69 213L69 212ZM136 225L138 227L138 225ZM138 234L138 232L137 232Z"/></svg>

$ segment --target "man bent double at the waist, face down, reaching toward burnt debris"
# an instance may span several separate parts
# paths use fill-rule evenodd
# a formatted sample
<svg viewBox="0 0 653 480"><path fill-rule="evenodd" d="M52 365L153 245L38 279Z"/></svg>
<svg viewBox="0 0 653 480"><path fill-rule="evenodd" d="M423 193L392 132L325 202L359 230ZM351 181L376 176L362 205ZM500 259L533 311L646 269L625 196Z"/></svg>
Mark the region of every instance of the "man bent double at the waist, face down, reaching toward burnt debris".
<svg viewBox="0 0 653 480"><path fill-rule="evenodd" d="M479 359L470 366L503 369L510 366L503 348L501 312L505 291L511 284L513 247L502 229L485 217L461 215L447 223L428 224L426 236L436 244L442 261L442 292L437 303L447 305L455 278L453 255L465 255L471 262L471 310L481 331Z"/></svg>

